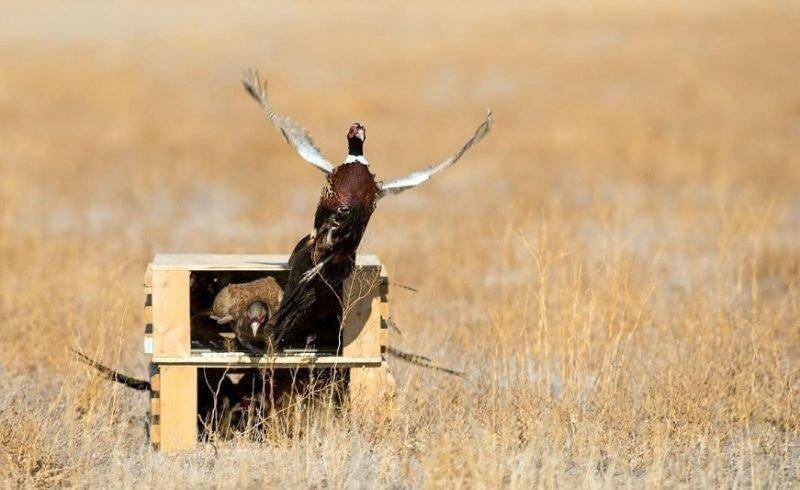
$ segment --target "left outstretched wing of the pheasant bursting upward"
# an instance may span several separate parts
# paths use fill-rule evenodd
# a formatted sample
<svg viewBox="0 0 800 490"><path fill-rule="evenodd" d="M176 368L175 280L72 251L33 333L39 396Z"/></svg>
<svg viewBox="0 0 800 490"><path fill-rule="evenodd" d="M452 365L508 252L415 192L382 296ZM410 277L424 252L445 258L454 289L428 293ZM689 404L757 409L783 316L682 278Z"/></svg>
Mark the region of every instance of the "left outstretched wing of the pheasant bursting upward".
<svg viewBox="0 0 800 490"><path fill-rule="evenodd" d="M314 145L314 140L306 129L297 122L286 116L279 116L273 112L272 107L267 101L267 82L261 83L258 70L248 70L242 78L242 85L247 93L264 109L269 120L278 131L281 132L286 142L297 150L303 160L319 168L323 172L330 173L333 165L328 162L322 152Z"/></svg>

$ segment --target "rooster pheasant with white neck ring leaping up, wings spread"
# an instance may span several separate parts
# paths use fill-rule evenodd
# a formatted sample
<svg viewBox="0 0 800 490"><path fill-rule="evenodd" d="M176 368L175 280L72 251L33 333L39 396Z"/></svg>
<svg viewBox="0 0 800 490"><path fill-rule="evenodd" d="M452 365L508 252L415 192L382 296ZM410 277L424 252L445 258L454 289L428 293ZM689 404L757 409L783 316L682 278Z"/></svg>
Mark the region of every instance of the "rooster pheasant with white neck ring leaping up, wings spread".
<svg viewBox="0 0 800 490"><path fill-rule="evenodd" d="M478 126L475 134L446 160L395 180L377 181L364 157L366 128L356 122L347 132L348 155L334 167L314 145L311 135L292 119L275 114L267 100L266 83L258 72L249 71L244 88L261 105L267 118L287 143L307 162L325 172L327 185L314 216L314 230L294 249L292 267L283 301L269 321L278 343L297 337L313 325L342 315L342 283L355 266L355 255L377 202L425 182L453 165L477 144L492 128L492 113Z"/></svg>

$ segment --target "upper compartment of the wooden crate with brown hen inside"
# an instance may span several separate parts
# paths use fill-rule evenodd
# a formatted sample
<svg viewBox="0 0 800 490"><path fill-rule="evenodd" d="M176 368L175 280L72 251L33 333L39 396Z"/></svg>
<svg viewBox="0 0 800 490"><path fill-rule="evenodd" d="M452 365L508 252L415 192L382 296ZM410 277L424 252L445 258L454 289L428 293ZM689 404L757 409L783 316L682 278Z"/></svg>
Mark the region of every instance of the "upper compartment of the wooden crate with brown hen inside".
<svg viewBox="0 0 800 490"><path fill-rule="evenodd" d="M380 356L388 280L374 256L359 257L330 314L309 324L294 342L272 349L267 323L289 274L287 258L157 255L145 286L146 352L157 358L226 352Z"/></svg>

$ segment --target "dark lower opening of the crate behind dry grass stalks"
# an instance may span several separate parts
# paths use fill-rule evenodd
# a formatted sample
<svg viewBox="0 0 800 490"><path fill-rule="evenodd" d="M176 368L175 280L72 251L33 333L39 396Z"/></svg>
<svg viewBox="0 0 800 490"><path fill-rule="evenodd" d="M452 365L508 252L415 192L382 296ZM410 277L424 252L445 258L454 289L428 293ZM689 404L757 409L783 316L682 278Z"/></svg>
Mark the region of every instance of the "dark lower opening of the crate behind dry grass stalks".
<svg viewBox="0 0 800 490"><path fill-rule="evenodd" d="M341 368L199 368L198 438L259 440L268 431L291 431L299 416L338 414L348 382L349 370Z"/></svg>

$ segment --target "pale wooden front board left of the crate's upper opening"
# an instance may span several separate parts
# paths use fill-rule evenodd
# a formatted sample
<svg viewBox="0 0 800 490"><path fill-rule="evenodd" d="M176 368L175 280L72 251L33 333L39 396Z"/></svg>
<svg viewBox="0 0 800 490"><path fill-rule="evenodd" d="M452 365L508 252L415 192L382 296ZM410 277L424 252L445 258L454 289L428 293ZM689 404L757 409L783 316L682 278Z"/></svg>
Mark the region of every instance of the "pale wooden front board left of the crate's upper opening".
<svg viewBox="0 0 800 490"><path fill-rule="evenodd" d="M153 355L190 353L189 272L153 270Z"/></svg>

